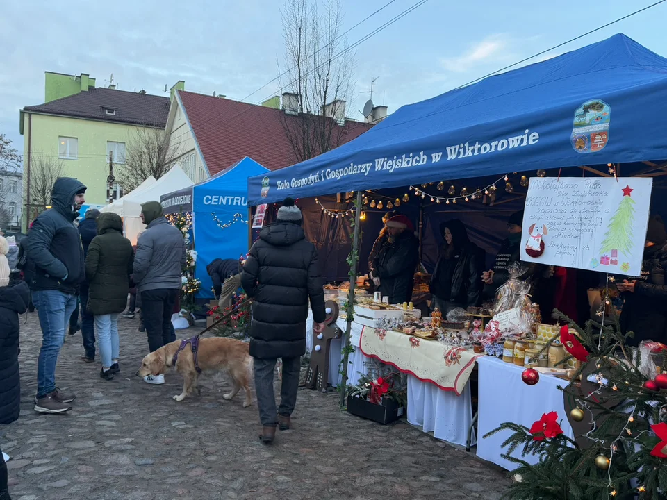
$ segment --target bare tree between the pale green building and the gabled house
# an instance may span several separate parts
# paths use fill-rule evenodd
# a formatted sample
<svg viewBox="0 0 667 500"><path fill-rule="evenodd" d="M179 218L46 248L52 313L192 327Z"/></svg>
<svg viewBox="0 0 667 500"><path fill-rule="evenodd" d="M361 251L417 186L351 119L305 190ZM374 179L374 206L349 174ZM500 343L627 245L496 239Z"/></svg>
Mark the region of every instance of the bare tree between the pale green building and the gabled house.
<svg viewBox="0 0 667 500"><path fill-rule="evenodd" d="M150 176L162 177L180 154L179 147L170 148L164 129L137 127L127 142L125 164L117 169L124 192L135 189Z"/></svg>

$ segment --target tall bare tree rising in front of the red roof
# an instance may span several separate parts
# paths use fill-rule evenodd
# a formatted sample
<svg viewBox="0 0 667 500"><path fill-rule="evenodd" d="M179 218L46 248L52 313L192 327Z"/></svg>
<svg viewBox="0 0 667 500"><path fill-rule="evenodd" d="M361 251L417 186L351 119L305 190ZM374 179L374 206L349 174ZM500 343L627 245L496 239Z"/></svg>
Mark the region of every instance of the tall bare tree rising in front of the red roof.
<svg viewBox="0 0 667 500"><path fill-rule="evenodd" d="M295 163L338 147L345 134L345 101L352 97L354 53L341 36L340 0L287 0L281 11L286 71L281 121ZM281 73L279 67L279 74Z"/></svg>

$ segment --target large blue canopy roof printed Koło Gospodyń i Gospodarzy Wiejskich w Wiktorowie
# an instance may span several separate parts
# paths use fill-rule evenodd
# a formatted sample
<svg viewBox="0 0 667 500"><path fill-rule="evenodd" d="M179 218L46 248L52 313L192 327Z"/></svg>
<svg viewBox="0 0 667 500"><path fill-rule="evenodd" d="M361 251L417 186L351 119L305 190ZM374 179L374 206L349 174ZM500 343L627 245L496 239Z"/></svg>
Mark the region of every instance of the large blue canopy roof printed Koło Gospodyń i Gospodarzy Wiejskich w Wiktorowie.
<svg viewBox="0 0 667 500"><path fill-rule="evenodd" d="M667 158L665 116L667 60L618 34L403 106L343 146L249 178L249 203Z"/></svg>

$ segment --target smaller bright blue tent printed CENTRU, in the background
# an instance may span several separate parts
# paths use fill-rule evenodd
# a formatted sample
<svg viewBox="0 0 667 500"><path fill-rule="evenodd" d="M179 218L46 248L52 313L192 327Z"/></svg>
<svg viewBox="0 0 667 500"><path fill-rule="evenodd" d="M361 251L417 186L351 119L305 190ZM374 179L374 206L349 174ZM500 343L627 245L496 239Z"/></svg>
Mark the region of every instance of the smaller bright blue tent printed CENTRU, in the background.
<svg viewBox="0 0 667 500"><path fill-rule="evenodd" d="M245 157L206 181L160 197L165 213L192 212L197 251L195 278L201 281L197 299L213 298L213 283L206 265L215 258L239 258L247 253L246 180L267 172L252 158Z"/></svg>

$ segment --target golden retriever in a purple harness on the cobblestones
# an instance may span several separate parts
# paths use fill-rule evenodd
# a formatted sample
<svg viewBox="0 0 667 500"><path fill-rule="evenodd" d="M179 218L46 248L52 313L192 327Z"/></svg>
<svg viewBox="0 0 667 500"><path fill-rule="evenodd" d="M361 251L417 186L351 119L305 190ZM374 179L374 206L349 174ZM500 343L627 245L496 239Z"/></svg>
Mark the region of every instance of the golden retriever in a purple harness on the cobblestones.
<svg viewBox="0 0 667 500"><path fill-rule="evenodd" d="M142 360L137 375L163 374L165 369L172 366L174 354L179 350L180 345L181 341L176 340L150 353ZM242 387L245 390L243 408L252 404L249 385L252 380L252 357L248 353L246 342L220 337L200 338L197 348L197 364L202 372L227 372L231 376L233 387L229 394L224 394L224 399L232 399ZM199 390L197 388L199 373L195 369L192 344L186 344L186 347L179 353L176 360L176 371L183 376L183 392L174 396L174 399L183 401L186 396Z"/></svg>

